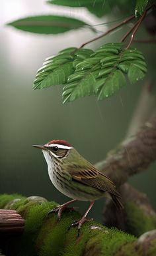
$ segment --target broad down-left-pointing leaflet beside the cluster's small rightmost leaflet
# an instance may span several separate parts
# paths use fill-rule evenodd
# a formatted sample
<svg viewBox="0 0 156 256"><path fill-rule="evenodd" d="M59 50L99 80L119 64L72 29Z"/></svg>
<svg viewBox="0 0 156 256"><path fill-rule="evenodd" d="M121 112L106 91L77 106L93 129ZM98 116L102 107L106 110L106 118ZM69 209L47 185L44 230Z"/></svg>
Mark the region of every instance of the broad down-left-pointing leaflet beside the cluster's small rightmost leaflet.
<svg viewBox="0 0 156 256"><path fill-rule="evenodd" d="M120 70L114 70L111 72L108 78L100 81L101 88L98 88L98 100L103 100L112 96L114 93L118 92L120 88L126 85L126 78ZM96 86L96 85L95 85ZM99 82L97 84L99 87Z"/></svg>

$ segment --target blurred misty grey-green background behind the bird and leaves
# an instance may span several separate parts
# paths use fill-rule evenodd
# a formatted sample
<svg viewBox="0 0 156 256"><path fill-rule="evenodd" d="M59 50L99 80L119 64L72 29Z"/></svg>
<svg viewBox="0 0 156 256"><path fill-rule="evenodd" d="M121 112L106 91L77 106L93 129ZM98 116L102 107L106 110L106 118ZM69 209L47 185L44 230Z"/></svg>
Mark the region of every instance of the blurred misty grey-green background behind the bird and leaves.
<svg viewBox="0 0 156 256"><path fill-rule="evenodd" d="M69 141L92 163L104 159L107 152L124 139L143 81L122 88L118 94L102 102L90 96L63 105L59 86L32 90L36 70L42 66L46 57L56 55L67 47L79 47L95 37L95 34L87 29L79 29L56 36L35 35L7 27L6 23L30 15L58 15L58 12L63 11L92 25L114 21L118 17L111 15L98 19L85 8L76 10L52 7L42 0L1 0L1 7L0 193L40 195L63 203L68 198L54 188L48 178L42 153L32 148L32 144L63 139ZM106 26L100 27L100 31L106 29ZM145 37L144 30L138 34ZM120 30L118 34L113 33L88 45L88 48L95 49L102 43L118 41L121 35L123 31ZM154 73L155 45L137 44L134 47L143 51L149 73ZM155 164L147 172L130 178L129 182L141 192L147 193L156 209ZM87 204L77 203L81 212L85 211ZM98 221L102 218L103 205L104 199L101 199L91 211L91 216Z"/></svg>

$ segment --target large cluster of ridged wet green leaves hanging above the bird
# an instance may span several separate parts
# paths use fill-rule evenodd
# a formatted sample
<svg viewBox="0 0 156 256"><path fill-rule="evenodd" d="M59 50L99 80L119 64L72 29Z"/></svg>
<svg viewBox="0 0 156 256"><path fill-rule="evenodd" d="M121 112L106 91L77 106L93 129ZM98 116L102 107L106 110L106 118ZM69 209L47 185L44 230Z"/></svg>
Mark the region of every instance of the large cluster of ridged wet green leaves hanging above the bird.
<svg viewBox="0 0 156 256"><path fill-rule="evenodd" d="M133 84L143 78L146 71L142 53L124 49L122 43L102 45L95 53L89 49L70 48L46 59L36 74L33 88L65 84L63 102L91 94L102 100L126 85L126 74Z"/></svg>

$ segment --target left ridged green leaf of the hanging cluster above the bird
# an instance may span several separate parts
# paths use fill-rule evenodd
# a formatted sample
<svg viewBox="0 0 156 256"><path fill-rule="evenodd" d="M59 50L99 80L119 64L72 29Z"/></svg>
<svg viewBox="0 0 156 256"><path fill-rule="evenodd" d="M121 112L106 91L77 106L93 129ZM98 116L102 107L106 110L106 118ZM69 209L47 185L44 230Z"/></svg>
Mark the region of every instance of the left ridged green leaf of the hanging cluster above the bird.
<svg viewBox="0 0 156 256"><path fill-rule="evenodd" d="M79 60L79 54L83 53L83 58L87 58L93 53L90 49L77 49L71 47L59 52L55 57L49 57L38 69L33 89L48 88L50 86L65 84L67 78L75 70L73 62Z"/></svg>

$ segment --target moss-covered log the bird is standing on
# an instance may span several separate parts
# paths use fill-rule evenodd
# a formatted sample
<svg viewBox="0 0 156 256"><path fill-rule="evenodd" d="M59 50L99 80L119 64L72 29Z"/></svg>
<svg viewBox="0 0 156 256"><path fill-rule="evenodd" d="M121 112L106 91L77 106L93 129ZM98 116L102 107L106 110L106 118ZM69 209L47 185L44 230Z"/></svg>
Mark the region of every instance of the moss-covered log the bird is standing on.
<svg viewBox="0 0 156 256"><path fill-rule="evenodd" d="M141 256L156 255L155 235L151 236L149 249L143 254L144 247L137 237L118 229L108 229L103 225L87 222L77 237L77 228L69 226L79 219L77 211L67 209L61 221L57 215L48 212L56 207L54 201L42 197L22 197L21 195L0 195L0 208L15 209L25 220L24 233L13 238L8 255L18 256ZM153 227L154 229L155 227ZM13 251L15 253L13 254ZM10 253L10 254L9 254Z"/></svg>

